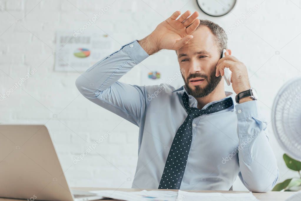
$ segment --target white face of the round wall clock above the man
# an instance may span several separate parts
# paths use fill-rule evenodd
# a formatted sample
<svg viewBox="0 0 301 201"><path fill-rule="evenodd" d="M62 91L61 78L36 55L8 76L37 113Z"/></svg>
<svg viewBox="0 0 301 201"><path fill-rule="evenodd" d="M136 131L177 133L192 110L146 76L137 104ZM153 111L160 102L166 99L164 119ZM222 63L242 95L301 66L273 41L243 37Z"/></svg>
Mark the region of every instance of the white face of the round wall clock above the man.
<svg viewBox="0 0 301 201"><path fill-rule="evenodd" d="M232 10L236 0L197 0L200 9L207 15L219 17Z"/></svg>

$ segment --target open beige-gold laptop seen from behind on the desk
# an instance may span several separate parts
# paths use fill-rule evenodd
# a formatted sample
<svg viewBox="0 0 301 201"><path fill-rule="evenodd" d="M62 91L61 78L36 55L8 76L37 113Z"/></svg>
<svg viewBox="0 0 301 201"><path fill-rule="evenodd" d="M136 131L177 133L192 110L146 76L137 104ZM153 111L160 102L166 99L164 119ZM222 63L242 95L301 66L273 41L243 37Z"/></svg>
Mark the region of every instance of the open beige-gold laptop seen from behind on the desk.
<svg viewBox="0 0 301 201"><path fill-rule="evenodd" d="M45 125L0 125L0 197L103 199L95 193L70 190Z"/></svg>

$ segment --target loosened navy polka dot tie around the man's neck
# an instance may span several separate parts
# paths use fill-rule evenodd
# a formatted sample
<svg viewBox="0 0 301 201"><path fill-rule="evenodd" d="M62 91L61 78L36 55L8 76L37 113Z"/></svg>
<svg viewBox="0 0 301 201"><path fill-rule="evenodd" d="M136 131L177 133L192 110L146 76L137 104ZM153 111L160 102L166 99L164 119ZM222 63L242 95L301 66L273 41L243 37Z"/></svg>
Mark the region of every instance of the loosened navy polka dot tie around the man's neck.
<svg viewBox="0 0 301 201"><path fill-rule="evenodd" d="M189 107L186 92L182 99L188 116L173 138L158 189L180 189L192 140L192 120L202 114L218 112L233 105L232 98L228 97L200 110Z"/></svg>

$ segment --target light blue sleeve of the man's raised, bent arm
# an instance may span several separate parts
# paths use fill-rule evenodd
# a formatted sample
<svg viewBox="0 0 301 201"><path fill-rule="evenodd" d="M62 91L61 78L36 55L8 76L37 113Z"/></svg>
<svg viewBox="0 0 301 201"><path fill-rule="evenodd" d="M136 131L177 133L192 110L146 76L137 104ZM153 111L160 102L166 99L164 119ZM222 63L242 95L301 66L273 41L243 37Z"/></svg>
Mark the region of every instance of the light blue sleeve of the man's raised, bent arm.
<svg viewBox="0 0 301 201"><path fill-rule="evenodd" d="M139 126L147 104L146 86L118 80L148 56L137 40L129 42L82 73L76 87L88 100Z"/></svg>

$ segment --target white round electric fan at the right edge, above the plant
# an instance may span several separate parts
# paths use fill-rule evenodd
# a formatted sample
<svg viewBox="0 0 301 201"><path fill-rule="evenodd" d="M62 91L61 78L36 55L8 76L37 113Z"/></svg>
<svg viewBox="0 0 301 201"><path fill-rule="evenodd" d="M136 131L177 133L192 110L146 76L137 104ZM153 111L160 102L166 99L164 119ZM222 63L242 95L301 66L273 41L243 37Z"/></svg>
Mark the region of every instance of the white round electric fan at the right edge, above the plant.
<svg viewBox="0 0 301 201"><path fill-rule="evenodd" d="M278 143L292 158L301 160L301 77L290 80L279 90L273 103L273 131ZM288 198L301 201L301 192Z"/></svg>

